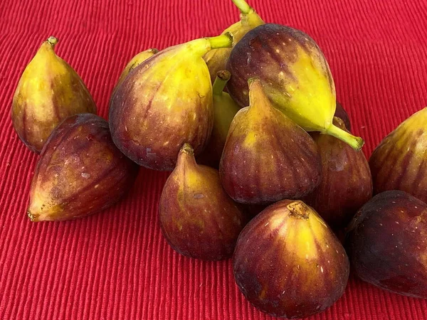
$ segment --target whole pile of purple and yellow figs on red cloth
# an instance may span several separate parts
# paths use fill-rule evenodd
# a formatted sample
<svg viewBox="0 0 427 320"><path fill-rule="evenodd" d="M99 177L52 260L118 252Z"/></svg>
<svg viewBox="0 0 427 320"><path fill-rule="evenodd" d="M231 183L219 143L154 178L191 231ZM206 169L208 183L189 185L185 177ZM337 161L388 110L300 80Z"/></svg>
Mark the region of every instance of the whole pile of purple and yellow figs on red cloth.
<svg viewBox="0 0 427 320"><path fill-rule="evenodd" d="M56 55L58 39L42 43L11 108L40 154L28 217L90 215L120 201L139 166L172 171L159 200L164 238L187 257L232 257L238 288L265 313L327 309L350 265L427 298L427 108L368 162L315 41L232 1L241 20L221 35L132 58L108 122Z"/></svg>

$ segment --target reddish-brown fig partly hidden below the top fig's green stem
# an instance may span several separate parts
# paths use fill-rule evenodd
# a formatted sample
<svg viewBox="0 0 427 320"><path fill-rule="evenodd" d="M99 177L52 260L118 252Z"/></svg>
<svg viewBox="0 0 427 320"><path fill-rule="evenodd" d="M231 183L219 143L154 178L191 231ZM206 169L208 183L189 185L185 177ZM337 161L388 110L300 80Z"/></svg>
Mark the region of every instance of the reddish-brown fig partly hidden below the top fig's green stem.
<svg viewBox="0 0 427 320"><path fill-rule="evenodd" d="M334 124L345 130L342 119ZM372 177L369 164L362 151L356 151L341 140L325 134L312 134L322 158L322 180L305 203L333 230L349 224L354 214L372 198Z"/></svg>

